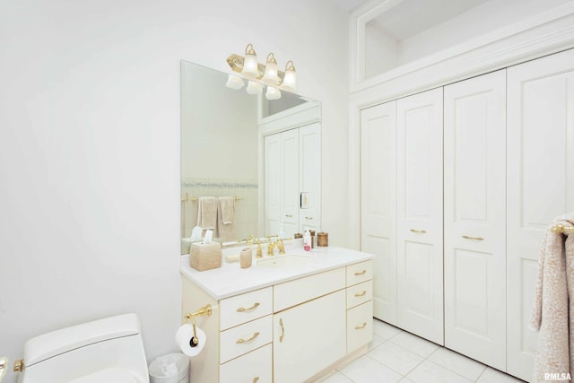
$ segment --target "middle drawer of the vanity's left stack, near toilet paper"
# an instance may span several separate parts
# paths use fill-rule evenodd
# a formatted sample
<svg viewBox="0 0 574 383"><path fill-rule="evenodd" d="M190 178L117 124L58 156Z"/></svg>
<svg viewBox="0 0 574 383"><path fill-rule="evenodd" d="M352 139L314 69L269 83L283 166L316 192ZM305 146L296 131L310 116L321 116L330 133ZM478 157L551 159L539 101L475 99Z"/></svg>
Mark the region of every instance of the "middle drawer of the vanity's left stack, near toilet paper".
<svg viewBox="0 0 574 383"><path fill-rule="evenodd" d="M222 331L219 335L220 363L237 358L273 340L273 317L268 315L241 326Z"/></svg>

